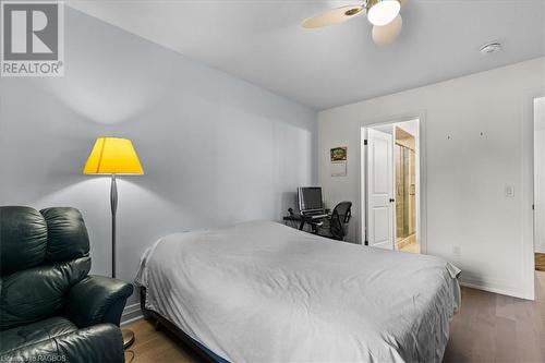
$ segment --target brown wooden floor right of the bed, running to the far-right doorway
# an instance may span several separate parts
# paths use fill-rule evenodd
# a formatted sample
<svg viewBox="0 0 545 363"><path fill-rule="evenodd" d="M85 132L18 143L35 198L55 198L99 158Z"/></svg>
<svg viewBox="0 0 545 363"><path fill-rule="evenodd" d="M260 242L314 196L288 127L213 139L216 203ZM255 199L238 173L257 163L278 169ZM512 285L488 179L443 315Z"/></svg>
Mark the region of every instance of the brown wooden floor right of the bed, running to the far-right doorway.
<svg viewBox="0 0 545 363"><path fill-rule="evenodd" d="M462 289L444 362L545 362L545 273L536 300Z"/></svg>

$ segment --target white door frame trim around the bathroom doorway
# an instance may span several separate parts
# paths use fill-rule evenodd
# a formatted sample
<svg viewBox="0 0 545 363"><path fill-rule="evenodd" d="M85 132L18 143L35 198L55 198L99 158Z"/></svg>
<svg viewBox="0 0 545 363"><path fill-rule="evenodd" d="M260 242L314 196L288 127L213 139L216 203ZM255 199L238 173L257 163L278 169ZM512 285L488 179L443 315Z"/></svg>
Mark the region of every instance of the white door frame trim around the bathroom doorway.
<svg viewBox="0 0 545 363"><path fill-rule="evenodd" d="M363 183L366 170L366 149L363 146L365 140L365 129L379 125L388 125L404 121L419 120L419 198L417 198L417 222L416 231L420 243L420 253L427 253L427 168L426 168L426 111L417 110L407 113L392 114L387 117L362 120L359 130L358 154L360 155L360 173L358 192L360 198L360 218L358 220L359 241L365 244L365 225L367 219L366 210L366 183Z"/></svg>

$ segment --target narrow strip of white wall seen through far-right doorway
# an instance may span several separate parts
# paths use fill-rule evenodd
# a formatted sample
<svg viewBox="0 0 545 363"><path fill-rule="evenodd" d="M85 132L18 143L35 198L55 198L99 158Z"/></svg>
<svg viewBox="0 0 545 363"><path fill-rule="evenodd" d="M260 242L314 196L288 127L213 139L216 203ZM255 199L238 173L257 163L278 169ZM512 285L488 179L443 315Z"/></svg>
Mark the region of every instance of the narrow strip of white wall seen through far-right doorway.
<svg viewBox="0 0 545 363"><path fill-rule="evenodd" d="M545 97L534 101L535 252L545 253Z"/></svg>

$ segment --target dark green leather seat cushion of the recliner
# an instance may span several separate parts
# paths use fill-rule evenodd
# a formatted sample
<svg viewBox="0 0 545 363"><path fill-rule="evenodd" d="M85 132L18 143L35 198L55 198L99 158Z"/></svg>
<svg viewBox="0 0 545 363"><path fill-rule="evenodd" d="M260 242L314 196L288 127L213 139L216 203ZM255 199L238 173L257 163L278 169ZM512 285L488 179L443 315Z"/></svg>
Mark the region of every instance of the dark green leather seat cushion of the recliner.
<svg viewBox="0 0 545 363"><path fill-rule="evenodd" d="M0 354L25 346L76 331L75 324L62 316L55 316L33 324L0 331Z"/></svg>

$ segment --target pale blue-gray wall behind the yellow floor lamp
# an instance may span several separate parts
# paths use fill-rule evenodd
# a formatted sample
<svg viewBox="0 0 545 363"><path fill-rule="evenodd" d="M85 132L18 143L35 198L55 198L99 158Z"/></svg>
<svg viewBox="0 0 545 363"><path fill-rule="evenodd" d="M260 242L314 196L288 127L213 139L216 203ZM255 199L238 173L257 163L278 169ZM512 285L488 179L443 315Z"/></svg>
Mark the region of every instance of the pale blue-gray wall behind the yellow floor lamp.
<svg viewBox="0 0 545 363"><path fill-rule="evenodd" d="M145 176L119 180L118 276L132 281L161 235L279 220L317 180L316 128L308 108L66 8L65 76L0 78L0 204L80 208L109 275L110 181L82 168L97 136L131 138Z"/></svg>

